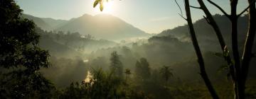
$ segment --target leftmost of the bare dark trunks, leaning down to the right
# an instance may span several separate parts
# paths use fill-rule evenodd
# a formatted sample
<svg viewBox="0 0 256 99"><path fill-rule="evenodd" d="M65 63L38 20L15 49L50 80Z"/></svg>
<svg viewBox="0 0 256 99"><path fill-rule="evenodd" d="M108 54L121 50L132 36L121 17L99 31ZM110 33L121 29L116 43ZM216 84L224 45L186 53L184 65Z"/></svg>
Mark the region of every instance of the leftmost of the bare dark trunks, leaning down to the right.
<svg viewBox="0 0 256 99"><path fill-rule="evenodd" d="M203 78L203 81L206 83L206 86L208 88L208 91L210 92L210 95L212 95L212 97L214 99L218 99L218 95L215 92L215 89L213 88L212 83L210 82L210 79L208 78L208 75L206 74L206 69L205 69L205 64L203 61L203 55L201 53L200 47L198 45L198 40L196 38L196 33L195 30L193 28L193 23L192 23L192 19L191 19L191 11L190 11L190 6L189 6L189 1L185 0L185 8L186 8L186 16L187 19L186 21L188 22L188 28L191 34L191 40L193 42L193 47L196 50L196 55L198 57L198 63L200 66L200 71L201 71L201 77Z"/></svg>

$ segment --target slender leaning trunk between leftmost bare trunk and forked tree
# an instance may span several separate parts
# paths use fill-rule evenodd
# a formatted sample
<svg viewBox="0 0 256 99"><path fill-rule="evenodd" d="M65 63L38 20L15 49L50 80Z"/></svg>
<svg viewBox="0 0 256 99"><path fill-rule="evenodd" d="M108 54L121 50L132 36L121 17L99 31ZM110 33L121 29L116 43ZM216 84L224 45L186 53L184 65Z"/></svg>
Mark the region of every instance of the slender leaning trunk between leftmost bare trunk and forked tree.
<svg viewBox="0 0 256 99"><path fill-rule="evenodd" d="M203 0L198 0L198 3L200 4L200 8L206 14L207 22L213 27L213 30L215 30L215 33L218 37L218 41L220 42L220 47L223 50L223 54L224 54L225 50L228 50L228 48L227 48L227 45L225 44L225 40L223 39L223 35L220 32L220 28L218 27L218 24L215 22L212 14L210 13L210 11L206 7L206 5L203 3ZM238 97L238 88L236 87L237 81L235 78L235 69L234 69L233 63L231 61L230 54L228 53L228 56L224 56L224 58L227 61L229 69L230 69L230 74L232 76L233 85L234 85L234 94L235 94L235 98L237 98Z"/></svg>

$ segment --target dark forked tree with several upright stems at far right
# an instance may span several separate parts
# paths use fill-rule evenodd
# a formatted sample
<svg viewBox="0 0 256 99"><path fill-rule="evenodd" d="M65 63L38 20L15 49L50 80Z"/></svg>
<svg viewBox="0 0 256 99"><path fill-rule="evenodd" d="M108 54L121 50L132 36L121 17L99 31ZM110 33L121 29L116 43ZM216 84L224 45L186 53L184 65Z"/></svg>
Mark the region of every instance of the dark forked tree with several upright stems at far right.
<svg viewBox="0 0 256 99"><path fill-rule="evenodd" d="M252 57L252 46L255 39L255 24L256 24L256 10L255 0L248 0L248 7L245 8L241 13L237 13L238 0L230 0L231 13L226 13L223 8L215 4L213 1L208 0L210 4L216 6L228 19L231 21L231 34L232 34L232 51L234 64L234 75L235 75L235 98L245 98L245 82L247 79L248 68ZM249 27L247 37L245 40L245 47L243 50L242 58L240 57L238 47L238 18L249 9ZM241 64L242 63L242 64Z"/></svg>

